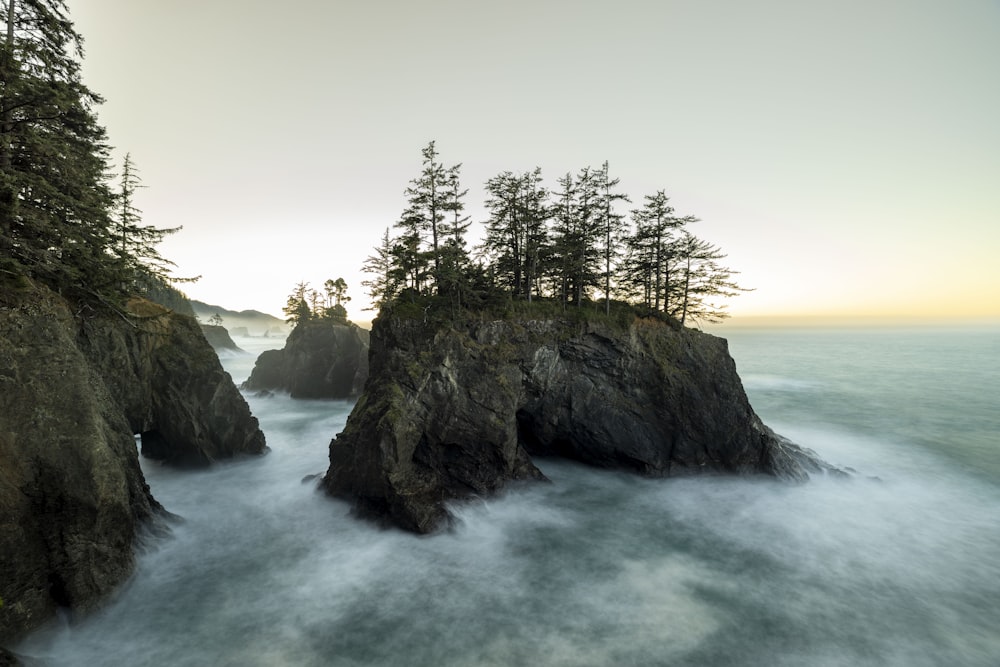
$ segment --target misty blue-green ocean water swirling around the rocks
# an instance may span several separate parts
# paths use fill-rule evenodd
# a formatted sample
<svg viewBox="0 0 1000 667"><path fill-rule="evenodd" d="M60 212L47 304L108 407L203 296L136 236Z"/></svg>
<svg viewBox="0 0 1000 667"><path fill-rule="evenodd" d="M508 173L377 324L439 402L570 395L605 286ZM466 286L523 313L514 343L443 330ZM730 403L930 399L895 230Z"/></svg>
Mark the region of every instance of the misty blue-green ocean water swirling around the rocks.
<svg viewBox="0 0 1000 667"><path fill-rule="evenodd" d="M855 475L542 461L551 484L416 537L308 479L349 402L248 396L272 451L143 462L182 520L106 608L16 649L53 666L1000 664L1000 329L720 335L764 422ZM253 359L223 363L241 382Z"/></svg>

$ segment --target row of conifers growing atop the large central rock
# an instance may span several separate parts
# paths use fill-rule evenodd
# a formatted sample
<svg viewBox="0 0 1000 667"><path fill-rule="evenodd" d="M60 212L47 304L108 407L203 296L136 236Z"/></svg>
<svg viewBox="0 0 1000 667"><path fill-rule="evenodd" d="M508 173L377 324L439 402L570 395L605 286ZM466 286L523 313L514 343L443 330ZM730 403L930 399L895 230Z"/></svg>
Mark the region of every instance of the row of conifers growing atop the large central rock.
<svg viewBox="0 0 1000 667"><path fill-rule="evenodd" d="M539 168L487 180L481 261L473 262L459 167L444 167L434 142L421 154L420 175L404 193L399 235L387 229L363 267L377 308L462 294L448 302L547 299L563 309L600 303L609 315L619 300L685 324L725 318L724 300L745 291L721 264L725 255L688 231L698 219L676 215L665 191L646 195L630 216L621 210L631 200L607 162L568 172L551 190Z"/></svg>

